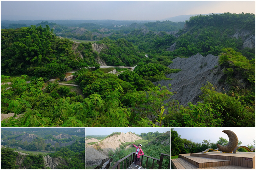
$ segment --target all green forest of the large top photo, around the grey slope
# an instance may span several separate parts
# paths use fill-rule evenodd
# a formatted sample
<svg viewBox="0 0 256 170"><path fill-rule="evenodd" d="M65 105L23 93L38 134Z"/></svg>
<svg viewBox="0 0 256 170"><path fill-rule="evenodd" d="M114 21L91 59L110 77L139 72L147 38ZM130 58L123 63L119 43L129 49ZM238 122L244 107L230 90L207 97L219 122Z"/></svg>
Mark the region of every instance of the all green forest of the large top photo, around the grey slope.
<svg viewBox="0 0 256 170"><path fill-rule="evenodd" d="M1 113L20 117L15 119L15 115L1 126L254 127L255 40L253 48L243 47L245 40L255 36L253 22L254 14L199 15L191 17L175 36L166 32L173 23L147 23L148 28L116 32L97 41L105 47L100 53L93 51L91 42L76 47L55 36L49 26L2 29L1 83L11 84L1 85ZM168 51L172 44L176 44L174 50ZM167 67L172 59L198 52L220 55L216 67L223 69L224 76L219 82L228 84L231 91L217 92L209 83L201 88L201 102L196 105L165 102L173 95L171 86L152 82L180 71ZM108 65L137 67L119 76L106 74L98 70L96 58ZM50 78L63 79L66 71L78 68L83 69L74 73L73 84L80 86L80 94L56 82L45 83Z"/></svg>

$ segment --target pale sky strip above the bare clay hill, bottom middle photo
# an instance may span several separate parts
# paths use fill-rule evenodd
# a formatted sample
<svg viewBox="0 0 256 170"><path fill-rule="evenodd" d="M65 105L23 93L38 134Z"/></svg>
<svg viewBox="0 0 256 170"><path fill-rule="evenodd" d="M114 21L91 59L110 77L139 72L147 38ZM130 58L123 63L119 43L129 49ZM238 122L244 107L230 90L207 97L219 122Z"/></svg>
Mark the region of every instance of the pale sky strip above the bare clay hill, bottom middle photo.
<svg viewBox="0 0 256 170"><path fill-rule="evenodd" d="M86 135L110 135L113 132L135 132L137 135L140 135L141 133L148 133L148 132L156 132L159 133L165 133L167 131L170 131L170 128L140 128L140 127L129 127L129 128L85 128L85 136Z"/></svg>

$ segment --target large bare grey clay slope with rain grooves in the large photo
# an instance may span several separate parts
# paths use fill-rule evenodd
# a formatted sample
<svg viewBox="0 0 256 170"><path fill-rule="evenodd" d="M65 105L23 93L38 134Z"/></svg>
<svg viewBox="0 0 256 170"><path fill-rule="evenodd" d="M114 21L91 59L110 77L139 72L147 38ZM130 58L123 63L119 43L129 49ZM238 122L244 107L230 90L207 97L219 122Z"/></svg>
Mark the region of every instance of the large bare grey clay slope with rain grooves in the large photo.
<svg viewBox="0 0 256 170"><path fill-rule="evenodd" d="M229 91L229 86L225 82L219 82L224 76L223 68L218 64L219 56L196 54L188 58L175 58L168 67L170 69L181 69L178 73L165 75L172 80L161 80L153 82L154 85L168 86L172 85L173 96L168 100L179 100L180 105L188 106L188 102L196 104L201 101L199 95L202 94L201 87L210 82L217 91ZM167 102L168 102L167 101Z"/></svg>

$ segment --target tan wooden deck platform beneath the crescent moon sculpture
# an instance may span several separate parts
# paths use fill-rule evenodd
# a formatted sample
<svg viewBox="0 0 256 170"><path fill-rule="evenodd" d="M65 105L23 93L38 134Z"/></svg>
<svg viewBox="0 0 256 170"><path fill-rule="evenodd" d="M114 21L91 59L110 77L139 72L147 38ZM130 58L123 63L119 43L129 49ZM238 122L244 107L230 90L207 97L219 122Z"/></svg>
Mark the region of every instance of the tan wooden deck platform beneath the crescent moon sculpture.
<svg viewBox="0 0 256 170"><path fill-rule="evenodd" d="M255 152L179 154L171 163L174 169L255 169Z"/></svg>

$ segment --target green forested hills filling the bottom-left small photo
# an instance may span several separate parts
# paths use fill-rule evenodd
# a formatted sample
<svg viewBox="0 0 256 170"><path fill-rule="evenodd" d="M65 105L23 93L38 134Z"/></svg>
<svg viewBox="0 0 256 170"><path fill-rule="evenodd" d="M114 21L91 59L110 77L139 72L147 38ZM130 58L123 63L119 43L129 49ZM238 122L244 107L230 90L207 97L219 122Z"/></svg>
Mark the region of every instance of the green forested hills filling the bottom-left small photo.
<svg viewBox="0 0 256 170"><path fill-rule="evenodd" d="M57 166L56 168L84 169L84 131L76 132L76 129L1 128L1 146L4 146L1 148L1 169L47 169L50 167L46 167L45 159L49 159L49 156L50 159L65 162L61 164L57 161L58 166L55 165L56 162L52 162L53 166ZM29 135L26 135L23 130ZM67 138L57 139L52 135L59 135L56 130L62 135L69 131L73 134ZM79 135L81 133L83 136ZM61 145L64 143L66 144ZM14 149L9 147L14 147ZM15 150L17 152L14 152ZM48 162L48 164L51 163Z"/></svg>

